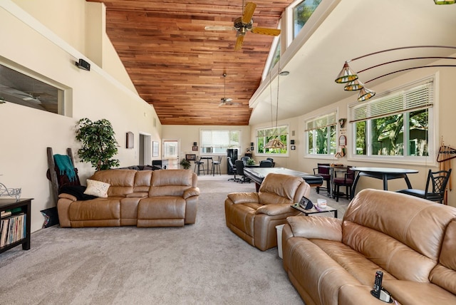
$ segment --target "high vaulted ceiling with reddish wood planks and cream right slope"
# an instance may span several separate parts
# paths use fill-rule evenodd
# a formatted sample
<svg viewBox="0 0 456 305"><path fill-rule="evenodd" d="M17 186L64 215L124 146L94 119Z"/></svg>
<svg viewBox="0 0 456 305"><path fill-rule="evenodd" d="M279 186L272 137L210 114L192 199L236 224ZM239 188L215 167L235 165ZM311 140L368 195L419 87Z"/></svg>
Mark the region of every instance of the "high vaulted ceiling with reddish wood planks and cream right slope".
<svg viewBox="0 0 456 305"><path fill-rule="evenodd" d="M242 0L87 1L105 3L108 36L138 93L153 105L163 125L256 125L294 118L344 98L356 100L357 92L343 91L334 83L344 61L389 48L456 46L456 4L322 0L299 36L286 43L279 65L290 75L277 77L276 67L261 81L272 36L247 33L242 51L234 51L235 31L204 30L232 26L242 15ZM257 3L254 26L265 28L276 28L293 2L249 1ZM281 40L285 38L282 31ZM455 53L451 48L402 49L352 61L351 68L358 72L401 58ZM360 78L367 82L433 61L437 58L385 64L360 73ZM451 59L442 63L456 65ZM226 96L223 73L227 73ZM368 85L375 87L398 75ZM224 97L239 105L219 107Z"/></svg>

